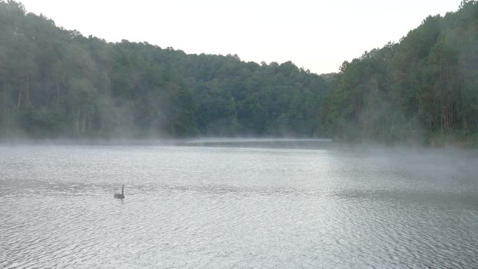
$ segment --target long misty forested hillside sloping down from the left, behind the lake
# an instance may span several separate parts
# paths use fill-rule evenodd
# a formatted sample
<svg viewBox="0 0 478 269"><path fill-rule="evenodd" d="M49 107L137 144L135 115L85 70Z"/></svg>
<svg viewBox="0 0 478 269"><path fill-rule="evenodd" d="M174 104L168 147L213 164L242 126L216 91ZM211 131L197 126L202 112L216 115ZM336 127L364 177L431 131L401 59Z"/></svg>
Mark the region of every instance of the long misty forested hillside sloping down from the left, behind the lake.
<svg viewBox="0 0 478 269"><path fill-rule="evenodd" d="M314 136L319 75L107 43L0 1L0 137Z"/></svg>

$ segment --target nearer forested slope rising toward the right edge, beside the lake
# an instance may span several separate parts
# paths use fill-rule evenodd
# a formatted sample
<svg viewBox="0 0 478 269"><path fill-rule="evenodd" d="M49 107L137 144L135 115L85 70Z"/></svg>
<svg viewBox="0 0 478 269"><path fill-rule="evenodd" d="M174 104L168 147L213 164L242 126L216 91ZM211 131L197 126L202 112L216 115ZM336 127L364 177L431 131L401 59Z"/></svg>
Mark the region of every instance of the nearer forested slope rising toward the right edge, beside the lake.
<svg viewBox="0 0 478 269"><path fill-rule="evenodd" d="M478 145L478 2L345 62L322 108L337 140Z"/></svg>

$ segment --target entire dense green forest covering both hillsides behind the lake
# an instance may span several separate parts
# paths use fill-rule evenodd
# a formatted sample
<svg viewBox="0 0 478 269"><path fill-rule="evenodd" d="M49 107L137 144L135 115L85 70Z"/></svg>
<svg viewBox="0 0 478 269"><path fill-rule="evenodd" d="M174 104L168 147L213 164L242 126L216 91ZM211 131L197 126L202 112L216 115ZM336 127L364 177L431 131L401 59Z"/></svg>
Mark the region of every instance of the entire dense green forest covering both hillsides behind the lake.
<svg viewBox="0 0 478 269"><path fill-rule="evenodd" d="M108 43L0 0L0 138L328 135L478 145L478 2L317 75Z"/></svg>

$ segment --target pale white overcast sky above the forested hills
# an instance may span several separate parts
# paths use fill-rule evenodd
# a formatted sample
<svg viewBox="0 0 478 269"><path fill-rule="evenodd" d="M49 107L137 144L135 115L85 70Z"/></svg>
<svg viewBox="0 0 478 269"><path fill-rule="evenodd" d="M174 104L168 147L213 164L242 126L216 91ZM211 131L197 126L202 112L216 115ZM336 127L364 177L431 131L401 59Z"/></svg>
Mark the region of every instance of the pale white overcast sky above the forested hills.
<svg viewBox="0 0 478 269"><path fill-rule="evenodd" d="M461 0L20 0L65 29L106 41L147 41L187 53L292 61L313 73L398 42Z"/></svg>

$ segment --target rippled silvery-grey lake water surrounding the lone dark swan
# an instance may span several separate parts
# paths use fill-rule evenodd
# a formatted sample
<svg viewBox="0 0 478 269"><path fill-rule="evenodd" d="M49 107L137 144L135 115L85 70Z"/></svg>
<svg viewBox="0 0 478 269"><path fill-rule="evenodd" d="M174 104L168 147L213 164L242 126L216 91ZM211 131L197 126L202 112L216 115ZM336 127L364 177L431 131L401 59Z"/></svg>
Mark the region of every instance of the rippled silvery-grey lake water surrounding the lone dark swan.
<svg viewBox="0 0 478 269"><path fill-rule="evenodd" d="M473 151L3 145L0 205L0 268L478 268Z"/></svg>

